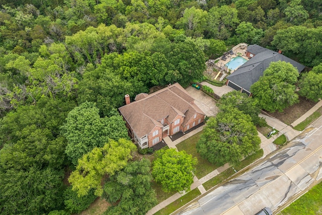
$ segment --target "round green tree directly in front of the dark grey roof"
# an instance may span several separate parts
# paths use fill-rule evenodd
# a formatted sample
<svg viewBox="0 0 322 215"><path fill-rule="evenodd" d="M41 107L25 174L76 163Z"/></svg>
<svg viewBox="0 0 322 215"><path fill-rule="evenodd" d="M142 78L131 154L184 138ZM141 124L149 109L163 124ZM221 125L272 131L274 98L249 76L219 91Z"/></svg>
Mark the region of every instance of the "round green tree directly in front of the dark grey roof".
<svg viewBox="0 0 322 215"><path fill-rule="evenodd" d="M251 86L251 92L259 107L282 112L298 102L295 83L299 76L297 69L285 61L271 62L264 76Z"/></svg>

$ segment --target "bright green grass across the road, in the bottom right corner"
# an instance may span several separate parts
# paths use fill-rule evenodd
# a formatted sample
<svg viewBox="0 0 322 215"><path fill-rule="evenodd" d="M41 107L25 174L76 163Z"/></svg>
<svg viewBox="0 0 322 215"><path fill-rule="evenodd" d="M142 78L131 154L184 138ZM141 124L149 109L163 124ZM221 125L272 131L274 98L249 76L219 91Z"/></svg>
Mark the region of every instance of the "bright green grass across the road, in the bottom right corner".
<svg viewBox="0 0 322 215"><path fill-rule="evenodd" d="M322 183L315 185L288 207L282 210L281 215L308 215L322 214Z"/></svg>

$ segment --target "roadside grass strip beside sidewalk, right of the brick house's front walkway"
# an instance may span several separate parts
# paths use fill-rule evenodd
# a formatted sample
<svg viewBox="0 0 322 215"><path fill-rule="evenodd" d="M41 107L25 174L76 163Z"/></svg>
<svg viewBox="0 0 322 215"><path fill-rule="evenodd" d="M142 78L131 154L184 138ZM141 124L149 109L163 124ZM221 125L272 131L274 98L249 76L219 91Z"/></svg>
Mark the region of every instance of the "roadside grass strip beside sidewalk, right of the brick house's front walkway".
<svg viewBox="0 0 322 215"><path fill-rule="evenodd" d="M247 157L246 159L241 161L239 163L239 165L234 166L233 168L236 171L239 171L239 170L247 167L248 165L250 165L254 161L260 159L263 156L263 154L264 154L263 150L260 149L258 152ZM232 176L234 173L235 173L235 171L230 167L230 168L226 169L225 171L223 171L222 173L219 173L218 175L216 175L215 177L213 177L209 181L203 183L203 186L206 190L209 190L210 188L216 186L217 184L220 184L221 182L225 181L227 178Z"/></svg>

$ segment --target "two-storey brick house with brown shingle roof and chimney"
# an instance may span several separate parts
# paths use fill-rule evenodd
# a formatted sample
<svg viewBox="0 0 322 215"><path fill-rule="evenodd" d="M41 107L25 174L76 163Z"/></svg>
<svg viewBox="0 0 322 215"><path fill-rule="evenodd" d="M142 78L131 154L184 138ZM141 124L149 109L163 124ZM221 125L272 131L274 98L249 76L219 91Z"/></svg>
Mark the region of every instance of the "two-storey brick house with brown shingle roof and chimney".
<svg viewBox="0 0 322 215"><path fill-rule="evenodd" d="M125 95L119 108L129 135L141 149L152 147L164 137L187 131L204 121L204 112L178 83L150 95L138 94L134 102Z"/></svg>

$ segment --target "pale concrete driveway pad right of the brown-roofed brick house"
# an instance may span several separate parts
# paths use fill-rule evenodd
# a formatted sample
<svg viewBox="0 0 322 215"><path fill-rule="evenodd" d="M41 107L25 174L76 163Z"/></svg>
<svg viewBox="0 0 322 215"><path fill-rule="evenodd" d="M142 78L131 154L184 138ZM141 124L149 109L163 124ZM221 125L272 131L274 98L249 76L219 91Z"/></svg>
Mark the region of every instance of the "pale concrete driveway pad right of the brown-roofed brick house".
<svg viewBox="0 0 322 215"><path fill-rule="evenodd" d="M201 90L197 90L193 87L186 89L187 93L195 99L195 104L207 115L215 116L218 113L218 107L216 106L216 100L203 93Z"/></svg>

